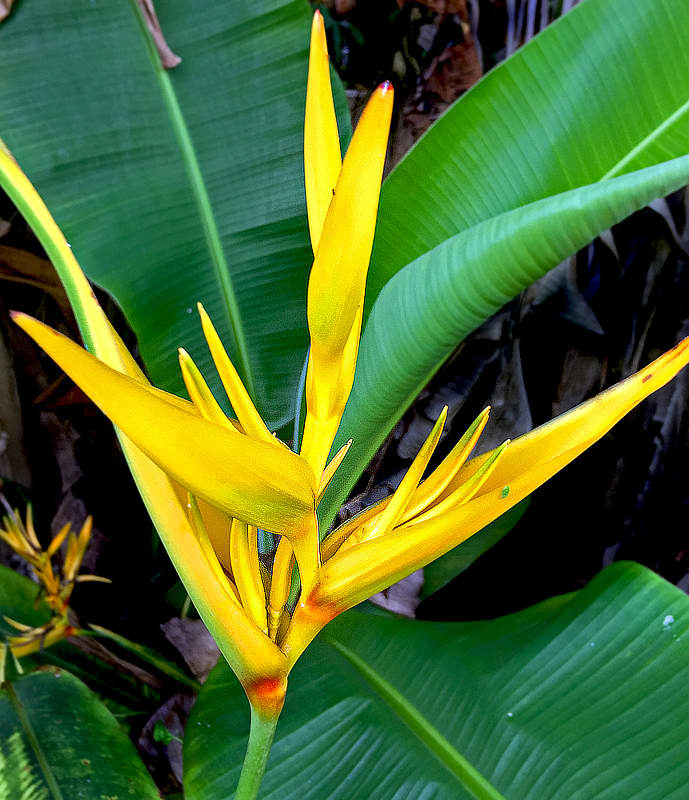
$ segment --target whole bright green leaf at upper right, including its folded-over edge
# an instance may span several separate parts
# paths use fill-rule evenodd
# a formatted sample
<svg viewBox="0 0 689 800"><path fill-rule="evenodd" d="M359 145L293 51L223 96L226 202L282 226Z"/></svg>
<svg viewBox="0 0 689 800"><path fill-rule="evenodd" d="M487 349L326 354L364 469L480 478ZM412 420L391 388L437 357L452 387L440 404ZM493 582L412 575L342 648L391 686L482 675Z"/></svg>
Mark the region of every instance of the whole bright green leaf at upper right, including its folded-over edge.
<svg viewBox="0 0 689 800"><path fill-rule="evenodd" d="M336 440L351 436L354 444L326 496L326 521L464 336L634 208L595 219L600 189L566 193L689 152L688 35L684 0L584 0L463 95L388 176L366 289L375 311ZM639 205L671 185L647 185ZM575 197L593 202L581 209L590 225L583 238L581 220L571 229L563 221L558 242L545 222L528 229L519 222L520 209L555 215ZM578 216L570 212L568 223ZM503 256L510 252L499 267L489 231ZM471 265L462 262L467 256Z"/></svg>

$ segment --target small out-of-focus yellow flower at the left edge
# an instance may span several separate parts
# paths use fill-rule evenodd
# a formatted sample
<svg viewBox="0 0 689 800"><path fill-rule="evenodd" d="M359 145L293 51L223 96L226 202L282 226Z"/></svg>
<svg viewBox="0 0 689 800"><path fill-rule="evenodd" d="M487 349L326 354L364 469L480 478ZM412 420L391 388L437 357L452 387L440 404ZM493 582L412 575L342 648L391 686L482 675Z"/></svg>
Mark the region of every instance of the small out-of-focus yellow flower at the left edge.
<svg viewBox="0 0 689 800"><path fill-rule="evenodd" d="M7 505L1 494L0 502L7 511L0 520L0 539L31 565L31 570L41 587L40 596L53 612L51 619L38 627L24 625L5 617L5 621L19 631L17 636L8 636L7 641L14 655L21 658L50 647L76 633L69 618L69 599L77 583L83 581L110 583L110 581L97 575L78 574L91 538L91 517L86 519L78 534L70 530L71 525L68 522L44 550L36 536L31 506L27 506L26 520L22 521L19 512ZM65 540L67 540L65 557L61 566L56 566L53 557Z"/></svg>

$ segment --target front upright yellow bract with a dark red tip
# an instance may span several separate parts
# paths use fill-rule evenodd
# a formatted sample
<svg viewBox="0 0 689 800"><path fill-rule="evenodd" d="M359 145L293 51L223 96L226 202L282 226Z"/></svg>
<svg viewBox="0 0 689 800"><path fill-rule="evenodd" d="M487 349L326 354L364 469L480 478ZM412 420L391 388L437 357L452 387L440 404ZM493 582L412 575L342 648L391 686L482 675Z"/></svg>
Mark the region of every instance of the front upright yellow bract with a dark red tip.
<svg viewBox="0 0 689 800"><path fill-rule="evenodd" d="M311 352L302 454L319 476L354 380L392 95L389 84L378 87L359 120L309 278Z"/></svg>

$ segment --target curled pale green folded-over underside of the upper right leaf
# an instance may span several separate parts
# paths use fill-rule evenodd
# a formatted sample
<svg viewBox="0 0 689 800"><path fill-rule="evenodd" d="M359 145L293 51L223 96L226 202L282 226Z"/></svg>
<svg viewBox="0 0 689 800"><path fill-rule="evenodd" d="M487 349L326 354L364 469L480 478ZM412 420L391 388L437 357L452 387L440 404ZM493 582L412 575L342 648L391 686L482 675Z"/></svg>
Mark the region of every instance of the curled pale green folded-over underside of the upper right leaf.
<svg viewBox="0 0 689 800"><path fill-rule="evenodd" d="M457 342L600 231L687 182L684 156L572 189L485 220L398 272L380 293L361 340L333 450L350 437L354 442L321 503L323 517L332 517Z"/></svg>

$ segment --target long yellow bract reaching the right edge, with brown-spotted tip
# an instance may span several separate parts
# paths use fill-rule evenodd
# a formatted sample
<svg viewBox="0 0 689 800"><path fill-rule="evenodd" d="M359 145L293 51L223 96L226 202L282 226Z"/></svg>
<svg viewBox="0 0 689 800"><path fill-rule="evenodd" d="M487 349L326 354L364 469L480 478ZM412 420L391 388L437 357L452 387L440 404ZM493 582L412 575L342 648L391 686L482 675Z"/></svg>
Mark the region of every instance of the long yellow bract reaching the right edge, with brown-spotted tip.
<svg viewBox="0 0 689 800"><path fill-rule="evenodd" d="M321 569L305 606L339 613L456 547L531 494L687 363L689 337L630 378L514 440L469 502L382 539L338 551ZM476 473L494 452L469 462L456 481Z"/></svg>

